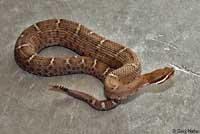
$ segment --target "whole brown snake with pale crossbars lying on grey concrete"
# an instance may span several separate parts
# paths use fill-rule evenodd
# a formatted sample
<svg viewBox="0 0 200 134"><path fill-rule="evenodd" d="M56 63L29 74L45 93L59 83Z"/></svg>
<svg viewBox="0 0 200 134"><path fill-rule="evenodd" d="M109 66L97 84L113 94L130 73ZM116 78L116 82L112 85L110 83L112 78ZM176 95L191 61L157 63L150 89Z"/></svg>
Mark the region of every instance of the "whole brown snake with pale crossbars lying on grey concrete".
<svg viewBox="0 0 200 134"><path fill-rule="evenodd" d="M45 57L38 54L55 45L71 49L80 56ZM64 92L96 110L113 109L140 87L163 83L174 74L173 68L165 67L141 75L141 64L131 49L64 19L40 21L25 29L17 39L14 53L16 63L32 74L86 73L97 77L104 83L106 100L60 85L51 87L51 90Z"/></svg>

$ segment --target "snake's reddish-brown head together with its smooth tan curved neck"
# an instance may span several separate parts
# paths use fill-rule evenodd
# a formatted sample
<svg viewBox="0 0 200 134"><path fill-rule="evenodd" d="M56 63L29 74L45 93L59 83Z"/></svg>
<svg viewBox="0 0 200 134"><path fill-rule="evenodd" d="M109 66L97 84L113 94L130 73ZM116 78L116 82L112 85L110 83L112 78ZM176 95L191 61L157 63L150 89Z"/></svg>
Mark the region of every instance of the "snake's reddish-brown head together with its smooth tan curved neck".
<svg viewBox="0 0 200 134"><path fill-rule="evenodd" d="M111 99L123 100L133 95L139 88L149 84L161 84L171 78L174 69L165 67L150 73L139 75L130 83L122 83L117 77L106 78L105 94ZM111 74L112 76L113 74Z"/></svg>

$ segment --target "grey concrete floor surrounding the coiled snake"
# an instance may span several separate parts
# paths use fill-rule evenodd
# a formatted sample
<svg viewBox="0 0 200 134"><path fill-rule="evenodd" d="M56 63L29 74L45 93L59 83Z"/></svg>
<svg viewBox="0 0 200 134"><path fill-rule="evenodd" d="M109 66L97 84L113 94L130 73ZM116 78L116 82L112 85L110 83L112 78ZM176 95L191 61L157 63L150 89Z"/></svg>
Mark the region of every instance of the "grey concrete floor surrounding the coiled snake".
<svg viewBox="0 0 200 134"><path fill-rule="evenodd" d="M139 55L143 73L174 66L176 74L108 112L50 92L48 85L59 83L103 98L103 85L92 76L44 78L16 65L20 32L49 18L80 22L126 44ZM200 133L200 1L0 0L0 29L0 134ZM59 47L42 52L66 53L73 54Z"/></svg>

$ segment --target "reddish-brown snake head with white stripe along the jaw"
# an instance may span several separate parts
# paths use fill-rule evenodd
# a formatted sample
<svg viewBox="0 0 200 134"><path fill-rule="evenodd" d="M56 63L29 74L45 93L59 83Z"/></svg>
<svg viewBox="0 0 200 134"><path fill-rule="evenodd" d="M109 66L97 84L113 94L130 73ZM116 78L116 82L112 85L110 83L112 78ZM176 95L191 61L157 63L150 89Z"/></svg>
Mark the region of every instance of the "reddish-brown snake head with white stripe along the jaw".
<svg viewBox="0 0 200 134"><path fill-rule="evenodd" d="M171 78L174 74L174 68L172 67L165 67L162 69L157 69L151 73L144 74L144 79L147 81L148 84L161 84Z"/></svg>

